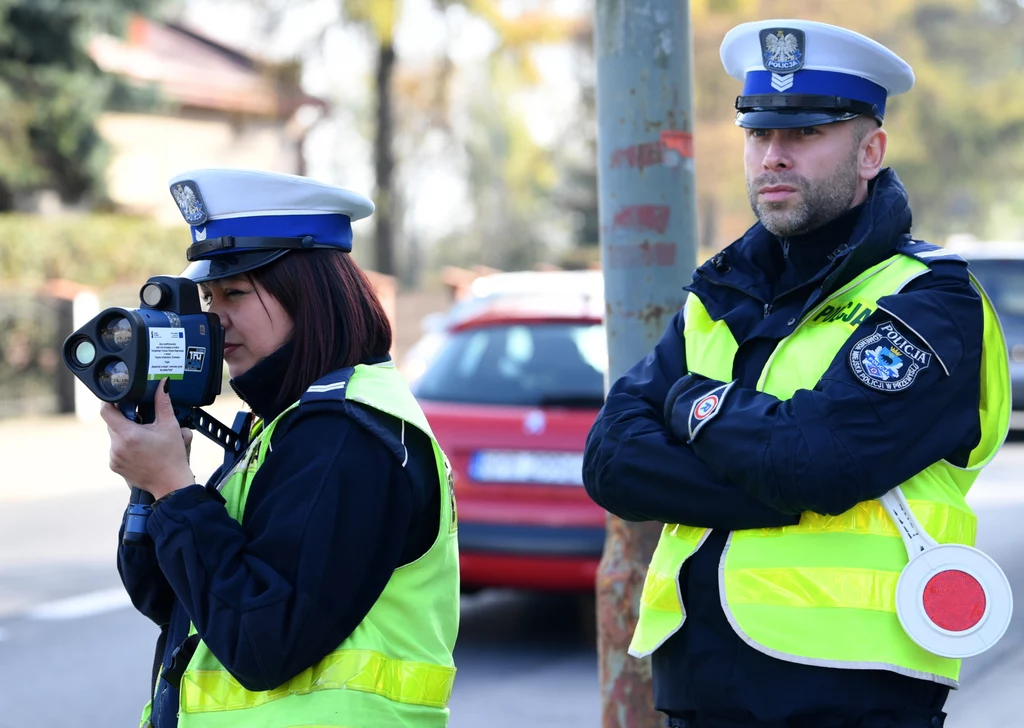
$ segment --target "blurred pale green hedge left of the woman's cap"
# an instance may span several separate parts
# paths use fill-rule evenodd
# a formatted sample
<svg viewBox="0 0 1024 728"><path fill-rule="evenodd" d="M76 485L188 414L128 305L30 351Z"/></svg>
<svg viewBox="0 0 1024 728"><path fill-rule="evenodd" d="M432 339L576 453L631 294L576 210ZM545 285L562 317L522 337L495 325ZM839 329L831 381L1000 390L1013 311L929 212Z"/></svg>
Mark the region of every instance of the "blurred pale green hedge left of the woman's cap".
<svg viewBox="0 0 1024 728"><path fill-rule="evenodd" d="M188 228L151 218L89 214L0 214L0 285L66 279L97 288L138 286L187 264Z"/></svg>

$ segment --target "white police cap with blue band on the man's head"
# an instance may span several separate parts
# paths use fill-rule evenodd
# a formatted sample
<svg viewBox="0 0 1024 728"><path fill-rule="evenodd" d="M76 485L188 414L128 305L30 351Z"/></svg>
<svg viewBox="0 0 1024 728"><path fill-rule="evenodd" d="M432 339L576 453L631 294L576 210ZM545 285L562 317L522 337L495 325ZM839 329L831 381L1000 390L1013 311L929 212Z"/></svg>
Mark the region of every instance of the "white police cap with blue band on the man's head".
<svg viewBox="0 0 1024 728"><path fill-rule="evenodd" d="M886 99L909 91L913 71L870 38L811 20L744 23L722 41L722 65L743 82L736 124L792 129L867 114L882 123Z"/></svg>

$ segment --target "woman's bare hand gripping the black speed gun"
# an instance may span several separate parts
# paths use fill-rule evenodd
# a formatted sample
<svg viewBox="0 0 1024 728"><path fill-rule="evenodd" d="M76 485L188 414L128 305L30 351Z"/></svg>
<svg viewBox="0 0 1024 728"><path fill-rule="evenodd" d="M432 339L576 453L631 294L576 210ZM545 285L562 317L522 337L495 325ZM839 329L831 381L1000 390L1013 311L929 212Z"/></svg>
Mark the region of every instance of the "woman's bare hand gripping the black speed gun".
<svg viewBox="0 0 1024 728"><path fill-rule="evenodd" d="M196 482L188 467L191 432L178 427L166 391L169 384L165 379L157 388L156 421L147 425L135 424L116 404L106 403L100 410L111 435L111 470L154 499Z"/></svg>

